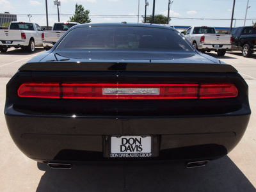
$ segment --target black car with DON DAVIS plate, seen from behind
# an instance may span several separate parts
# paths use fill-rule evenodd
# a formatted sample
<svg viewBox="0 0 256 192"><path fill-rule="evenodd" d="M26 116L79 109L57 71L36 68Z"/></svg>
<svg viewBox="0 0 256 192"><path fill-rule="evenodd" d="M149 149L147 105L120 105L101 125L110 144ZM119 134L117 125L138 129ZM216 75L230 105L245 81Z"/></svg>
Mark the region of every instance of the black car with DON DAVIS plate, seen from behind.
<svg viewBox="0 0 256 192"><path fill-rule="evenodd" d="M250 118L237 70L156 24L83 24L19 68L6 87L13 141L52 168L81 161L204 165Z"/></svg>

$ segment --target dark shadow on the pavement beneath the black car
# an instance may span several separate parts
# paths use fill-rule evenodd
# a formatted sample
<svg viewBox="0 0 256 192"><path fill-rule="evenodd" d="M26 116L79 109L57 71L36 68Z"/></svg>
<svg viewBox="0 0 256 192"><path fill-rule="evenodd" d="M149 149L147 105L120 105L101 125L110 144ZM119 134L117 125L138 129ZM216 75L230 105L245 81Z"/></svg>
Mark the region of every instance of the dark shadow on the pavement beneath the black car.
<svg viewBox="0 0 256 192"><path fill-rule="evenodd" d="M72 170L45 170L36 191L255 191L227 156L202 168L184 162L75 164Z"/></svg>

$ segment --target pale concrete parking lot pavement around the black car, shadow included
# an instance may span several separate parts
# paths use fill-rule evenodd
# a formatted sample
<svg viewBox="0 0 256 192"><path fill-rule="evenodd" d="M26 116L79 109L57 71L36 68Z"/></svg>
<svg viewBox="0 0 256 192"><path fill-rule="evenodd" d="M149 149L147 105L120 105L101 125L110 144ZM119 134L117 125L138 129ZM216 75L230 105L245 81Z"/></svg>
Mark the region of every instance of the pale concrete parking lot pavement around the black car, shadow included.
<svg viewBox="0 0 256 192"><path fill-rule="evenodd" d="M76 164L72 170L51 170L24 156L15 146L4 120L5 86L18 68L44 49L31 54L21 49L0 53L0 191L256 191L256 54L223 57L249 85L252 116L239 145L203 168L184 162ZM36 125L35 125L36 126Z"/></svg>

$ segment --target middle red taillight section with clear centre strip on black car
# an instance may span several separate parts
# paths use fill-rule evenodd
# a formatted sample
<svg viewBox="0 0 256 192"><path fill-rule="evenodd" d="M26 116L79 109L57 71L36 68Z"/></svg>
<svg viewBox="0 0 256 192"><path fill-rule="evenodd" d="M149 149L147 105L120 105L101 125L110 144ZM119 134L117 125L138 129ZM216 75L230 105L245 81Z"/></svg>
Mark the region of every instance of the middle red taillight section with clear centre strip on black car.
<svg viewBox="0 0 256 192"><path fill-rule="evenodd" d="M198 84L64 83L65 99L196 99Z"/></svg>

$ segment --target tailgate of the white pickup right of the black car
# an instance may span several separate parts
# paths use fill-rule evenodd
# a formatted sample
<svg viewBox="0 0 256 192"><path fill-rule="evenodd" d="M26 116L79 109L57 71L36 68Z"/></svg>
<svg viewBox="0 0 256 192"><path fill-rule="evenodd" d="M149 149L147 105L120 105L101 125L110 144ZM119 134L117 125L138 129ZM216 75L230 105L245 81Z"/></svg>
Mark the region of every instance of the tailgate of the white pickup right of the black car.
<svg viewBox="0 0 256 192"><path fill-rule="evenodd" d="M231 35L205 34L204 44L227 45L230 44Z"/></svg>

